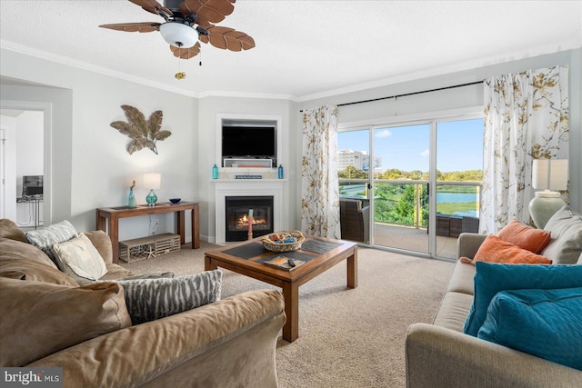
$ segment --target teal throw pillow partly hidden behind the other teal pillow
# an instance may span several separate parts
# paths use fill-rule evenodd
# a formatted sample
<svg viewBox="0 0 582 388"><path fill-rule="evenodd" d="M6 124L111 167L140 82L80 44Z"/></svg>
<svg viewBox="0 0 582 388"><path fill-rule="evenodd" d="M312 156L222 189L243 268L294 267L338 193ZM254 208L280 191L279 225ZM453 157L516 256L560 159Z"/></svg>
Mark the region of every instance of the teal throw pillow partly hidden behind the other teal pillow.
<svg viewBox="0 0 582 388"><path fill-rule="evenodd" d="M473 304L463 332L477 337L491 299L500 291L582 287L582 265L475 264Z"/></svg>

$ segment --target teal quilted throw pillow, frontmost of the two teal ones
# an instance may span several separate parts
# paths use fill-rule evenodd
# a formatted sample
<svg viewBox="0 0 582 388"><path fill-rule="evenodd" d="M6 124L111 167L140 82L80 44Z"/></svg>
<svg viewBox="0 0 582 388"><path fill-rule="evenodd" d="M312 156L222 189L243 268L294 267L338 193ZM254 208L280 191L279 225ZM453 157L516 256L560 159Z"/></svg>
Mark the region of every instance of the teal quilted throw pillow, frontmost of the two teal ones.
<svg viewBox="0 0 582 388"><path fill-rule="evenodd" d="M582 288L497 293L477 337L582 370Z"/></svg>

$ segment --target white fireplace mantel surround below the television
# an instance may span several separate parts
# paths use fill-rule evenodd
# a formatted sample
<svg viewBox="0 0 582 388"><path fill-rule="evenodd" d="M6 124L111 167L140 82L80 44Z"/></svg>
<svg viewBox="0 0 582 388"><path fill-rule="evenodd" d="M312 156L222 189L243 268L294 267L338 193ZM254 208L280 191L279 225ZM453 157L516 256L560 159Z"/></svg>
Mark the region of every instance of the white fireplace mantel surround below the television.
<svg viewBox="0 0 582 388"><path fill-rule="evenodd" d="M237 173L240 174L240 173ZM276 174L276 173L275 173ZM273 196L274 230L288 229L289 206L286 200L286 179L215 179L216 244L226 243L227 196Z"/></svg>

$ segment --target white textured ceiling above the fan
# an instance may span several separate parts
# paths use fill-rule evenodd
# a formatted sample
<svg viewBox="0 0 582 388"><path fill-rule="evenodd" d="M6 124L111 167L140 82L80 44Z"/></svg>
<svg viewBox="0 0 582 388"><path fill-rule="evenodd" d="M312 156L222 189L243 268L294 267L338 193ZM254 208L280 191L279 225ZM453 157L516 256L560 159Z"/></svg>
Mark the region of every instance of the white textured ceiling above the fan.
<svg viewBox="0 0 582 388"><path fill-rule="evenodd" d="M2 0L0 18L3 48L197 96L304 100L582 45L582 1L239 0L217 25L256 47L181 61L157 32L97 27L163 22L125 0Z"/></svg>

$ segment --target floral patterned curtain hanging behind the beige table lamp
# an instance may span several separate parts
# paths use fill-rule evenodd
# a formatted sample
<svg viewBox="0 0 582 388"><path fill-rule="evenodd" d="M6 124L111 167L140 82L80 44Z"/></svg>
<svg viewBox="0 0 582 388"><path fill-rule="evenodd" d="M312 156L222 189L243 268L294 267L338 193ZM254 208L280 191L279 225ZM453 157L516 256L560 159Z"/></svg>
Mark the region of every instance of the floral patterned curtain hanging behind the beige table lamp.
<svg viewBox="0 0 582 388"><path fill-rule="evenodd" d="M533 160L568 158L567 76L556 66L485 81L481 233L529 224Z"/></svg>

